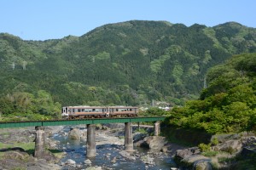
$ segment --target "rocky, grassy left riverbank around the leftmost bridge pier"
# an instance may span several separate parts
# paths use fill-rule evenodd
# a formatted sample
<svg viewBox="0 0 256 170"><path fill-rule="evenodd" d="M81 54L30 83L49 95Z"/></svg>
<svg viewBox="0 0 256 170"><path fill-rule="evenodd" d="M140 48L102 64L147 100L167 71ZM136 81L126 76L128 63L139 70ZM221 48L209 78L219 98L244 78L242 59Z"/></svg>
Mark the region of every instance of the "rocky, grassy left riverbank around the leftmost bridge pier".
<svg viewBox="0 0 256 170"><path fill-rule="evenodd" d="M45 132L50 136L60 129L48 127ZM0 129L0 169L61 169L57 162L63 153L57 151L57 141L46 138L49 151L43 159L37 159L33 156L34 139L34 127Z"/></svg>

